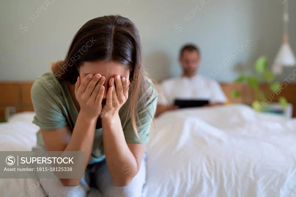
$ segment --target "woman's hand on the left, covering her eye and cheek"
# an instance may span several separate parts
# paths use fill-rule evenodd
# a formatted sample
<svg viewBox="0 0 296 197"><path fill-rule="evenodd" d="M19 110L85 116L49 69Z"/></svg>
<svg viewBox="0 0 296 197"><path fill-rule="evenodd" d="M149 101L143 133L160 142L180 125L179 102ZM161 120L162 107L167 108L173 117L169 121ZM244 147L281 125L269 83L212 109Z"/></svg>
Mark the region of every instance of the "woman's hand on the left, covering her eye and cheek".
<svg viewBox="0 0 296 197"><path fill-rule="evenodd" d="M80 106L80 112L86 117L96 119L102 112L105 77L100 74L88 74L81 82L80 76L75 83L75 97ZM80 113L79 112L79 113Z"/></svg>

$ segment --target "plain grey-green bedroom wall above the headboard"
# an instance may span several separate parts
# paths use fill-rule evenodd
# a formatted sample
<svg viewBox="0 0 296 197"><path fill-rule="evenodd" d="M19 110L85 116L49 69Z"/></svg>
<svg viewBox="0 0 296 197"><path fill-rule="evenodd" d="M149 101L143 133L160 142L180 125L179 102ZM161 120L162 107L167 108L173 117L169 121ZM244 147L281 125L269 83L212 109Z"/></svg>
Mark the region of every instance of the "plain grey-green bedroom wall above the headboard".
<svg viewBox="0 0 296 197"><path fill-rule="evenodd" d="M218 81L234 80L237 71L250 72L262 54L272 62L281 44L283 4L276 0L49 0L48 6L44 2L1 2L0 80L34 80L51 61L64 58L86 21L107 14L121 14L136 24L145 68L156 80L180 75L178 53L186 42L200 46L198 72ZM289 10L290 41L296 52L296 1L289 2ZM34 21L32 14L38 16ZM251 41L242 43L247 38ZM285 69L281 78L295 68Z"/></svg>

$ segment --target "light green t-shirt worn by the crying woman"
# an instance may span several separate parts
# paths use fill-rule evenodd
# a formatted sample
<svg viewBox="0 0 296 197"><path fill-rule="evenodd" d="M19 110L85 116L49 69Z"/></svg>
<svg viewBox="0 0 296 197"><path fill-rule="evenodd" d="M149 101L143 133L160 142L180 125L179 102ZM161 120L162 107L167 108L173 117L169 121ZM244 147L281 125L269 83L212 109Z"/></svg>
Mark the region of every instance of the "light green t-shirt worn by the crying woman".
<svg viewBox="0 0 296 197"><path fill-rule="evenodd" d="M128 94L128 100L119 110L124 137L127 143L147 143L149 141L152 117L156 110L157 91L152 82L149 81L149 88L146 92L147 103L143 106L141 102L142 98L140 98L137 104L140 122L139 125L137 123L137 128L141 141L133 131L129 113L131 88ZM43 130L56 130L67 125L71 132L73 132L78 112L65 80L58 80L52 71L48 71L38 77L33 83L31 97L36 112L33 120L34 124ZM37 144L44 145L40 130L37 133ZM104 158L102 128L100 128L96 129L95 132L89 164L100 162Z"/></svg>

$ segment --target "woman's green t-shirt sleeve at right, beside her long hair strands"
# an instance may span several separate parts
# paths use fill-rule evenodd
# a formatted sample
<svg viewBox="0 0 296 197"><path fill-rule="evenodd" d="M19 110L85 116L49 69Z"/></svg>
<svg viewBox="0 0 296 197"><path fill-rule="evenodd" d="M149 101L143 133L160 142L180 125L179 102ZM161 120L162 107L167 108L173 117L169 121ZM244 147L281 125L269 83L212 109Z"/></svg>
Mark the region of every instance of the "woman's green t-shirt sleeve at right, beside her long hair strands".
<svg viewBox="0 0 296 197"><path fill-rule="evenodd" d="M140 139L136 136L133 130L133 125L130 118L123 127L123 132L127 143L148 143L156 105L157 92L153 87L152 94L150 98L147 99L146 104L144 106L142 102L139 102L138 104L139 121L136 120L136 125Z"/></svg>

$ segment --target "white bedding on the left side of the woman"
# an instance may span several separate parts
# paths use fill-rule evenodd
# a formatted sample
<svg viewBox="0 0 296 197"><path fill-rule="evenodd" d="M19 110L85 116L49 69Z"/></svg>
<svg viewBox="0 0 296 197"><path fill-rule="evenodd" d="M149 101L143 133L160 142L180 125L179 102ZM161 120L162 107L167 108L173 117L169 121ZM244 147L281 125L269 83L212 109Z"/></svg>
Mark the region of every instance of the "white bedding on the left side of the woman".
<svg viewBox="0 0 296 197"><path fill-rule="evenodd" d="M34 112L16 114L0 124L0 151L31 151L36 145L38 127ZM0 196L45 197L36 179L0 179Z"/></svg>

